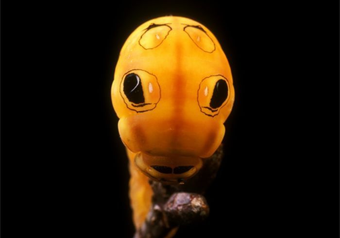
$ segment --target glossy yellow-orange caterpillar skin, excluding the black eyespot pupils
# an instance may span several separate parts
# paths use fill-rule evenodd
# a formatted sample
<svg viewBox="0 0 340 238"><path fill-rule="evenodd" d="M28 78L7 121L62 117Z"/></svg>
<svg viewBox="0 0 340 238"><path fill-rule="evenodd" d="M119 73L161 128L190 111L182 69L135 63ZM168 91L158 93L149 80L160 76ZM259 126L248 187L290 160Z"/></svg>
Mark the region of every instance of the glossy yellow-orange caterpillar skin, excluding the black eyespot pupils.
<svg viewBox="0 0 340 238"><path fill-rule="evenodd" d="M124 94L123 80L129 73L140 77L147 105L136 107ZM219 79L227 83L228 97L211 111L207 107ZM175 182L195 175L202 159L221 144L234 94L227 58L202 24L178 16L159 17L139 26L126 40L111 96L119 117L119 135L130 159L136 227L150 206L147 176ZM192 168L183 174L163 174L153 165Z"/></svg>

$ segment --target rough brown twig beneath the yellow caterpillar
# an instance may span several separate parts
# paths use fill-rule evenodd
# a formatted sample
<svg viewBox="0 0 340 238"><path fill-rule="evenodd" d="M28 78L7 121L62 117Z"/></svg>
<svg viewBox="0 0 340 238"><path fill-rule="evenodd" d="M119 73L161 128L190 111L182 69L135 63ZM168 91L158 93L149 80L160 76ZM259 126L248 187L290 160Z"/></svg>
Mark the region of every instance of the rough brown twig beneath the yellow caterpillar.
<svg viewBox="0 0 340 238"><path fill-rule="evenodd" d="M222 157L221 145L185 184L165 185L150 180L153 205L134 238L164 238L181 225L203 221L209 215L209 206L202 194L216 177Z"/></svg>

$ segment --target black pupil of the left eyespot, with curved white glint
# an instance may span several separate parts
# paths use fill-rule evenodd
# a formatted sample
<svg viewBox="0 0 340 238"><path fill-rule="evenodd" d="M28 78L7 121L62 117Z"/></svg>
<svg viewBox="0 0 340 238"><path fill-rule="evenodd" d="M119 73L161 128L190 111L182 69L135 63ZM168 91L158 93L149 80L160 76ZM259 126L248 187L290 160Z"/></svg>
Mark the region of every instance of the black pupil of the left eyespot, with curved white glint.
<svg viewBox="0 0 340 238"><path fill-rule="evenodd" d="M144 103L142 82L138 75L131 73L124 79L124 94L133 103Z"/></svg>

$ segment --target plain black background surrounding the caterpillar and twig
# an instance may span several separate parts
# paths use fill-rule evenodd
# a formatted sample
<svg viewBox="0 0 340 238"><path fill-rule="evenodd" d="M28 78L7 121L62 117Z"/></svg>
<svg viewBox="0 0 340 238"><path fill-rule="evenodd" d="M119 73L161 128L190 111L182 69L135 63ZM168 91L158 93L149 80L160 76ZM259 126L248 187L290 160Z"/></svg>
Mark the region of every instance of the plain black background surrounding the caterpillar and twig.
<svg viewBox="0 0 340 238"><path fill-rule="evenodd" d="M177 237L338 237L338 4L1 1L4 237L132 237L110 86L128 35L170 14L216 35L236 90L210 217Z"/></svg>

